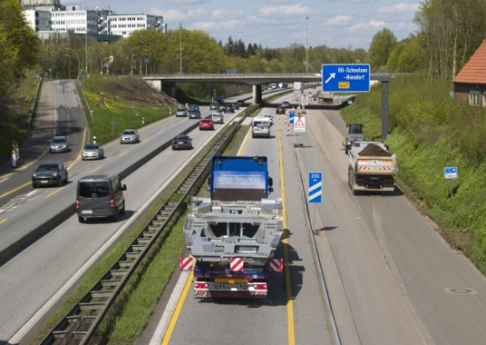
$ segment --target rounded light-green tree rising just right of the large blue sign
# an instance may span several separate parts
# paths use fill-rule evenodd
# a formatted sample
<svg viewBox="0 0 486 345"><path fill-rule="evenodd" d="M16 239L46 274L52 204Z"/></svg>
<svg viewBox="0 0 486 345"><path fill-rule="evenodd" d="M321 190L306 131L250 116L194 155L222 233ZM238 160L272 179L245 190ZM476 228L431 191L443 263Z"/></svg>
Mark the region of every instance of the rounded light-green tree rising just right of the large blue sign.
<svg viewBox="0 0 486 345"><path fill-rule="evenodd" d="M386 65L391 51L397 45L397 37L390 29L383 28L378 31L371 40L368 49L368 63L372 70L380 71Z"/></svg>

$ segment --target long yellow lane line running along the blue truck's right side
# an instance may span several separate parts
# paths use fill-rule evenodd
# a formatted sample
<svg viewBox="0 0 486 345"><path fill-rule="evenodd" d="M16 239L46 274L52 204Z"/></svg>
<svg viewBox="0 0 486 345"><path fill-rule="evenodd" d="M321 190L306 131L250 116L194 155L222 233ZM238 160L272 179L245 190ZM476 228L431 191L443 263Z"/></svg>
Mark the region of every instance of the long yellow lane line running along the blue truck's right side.
<svg viewBox="0 0 486 345"><path fill-rule="evenodd" d="M284 160L282 158L282 121L278 118L278 161L280 163L280 193L282 196L282 216L284 225L284 270L285 270L285 288L287 290L287 336L289 344L295 344L295 333L293 328L293 300L292 300L292 282L289 264L289 232L287 229L287 211L285 209L285 186L284 186Z"/></svg>

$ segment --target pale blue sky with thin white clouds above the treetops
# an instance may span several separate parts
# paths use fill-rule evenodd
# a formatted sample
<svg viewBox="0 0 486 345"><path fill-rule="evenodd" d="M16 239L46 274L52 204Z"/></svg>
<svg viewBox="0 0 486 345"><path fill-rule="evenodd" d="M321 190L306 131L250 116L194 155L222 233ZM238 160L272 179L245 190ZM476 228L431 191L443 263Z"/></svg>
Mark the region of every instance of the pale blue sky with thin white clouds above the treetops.
<svg viewBox="0 0 486 345"><path fill-rule="evenodd" d="M388 28L400 41L417 33L419 0L61 0L66 8L163 16L168 30L206 32L216 42L241 40L263 48L362 48Z"/></svg>

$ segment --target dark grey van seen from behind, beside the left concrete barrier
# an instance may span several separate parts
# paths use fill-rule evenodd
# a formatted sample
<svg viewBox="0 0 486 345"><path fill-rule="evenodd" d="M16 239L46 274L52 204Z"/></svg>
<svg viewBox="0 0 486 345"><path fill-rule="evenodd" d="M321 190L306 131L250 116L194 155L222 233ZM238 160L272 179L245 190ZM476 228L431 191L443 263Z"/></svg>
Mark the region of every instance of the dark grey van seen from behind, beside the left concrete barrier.
<svg viewBox="0 0 486 345"><path fill-rule="evenodd" d="M76 192L76 213L80 223L93 218L117 221L118 213L125 213L124 190L126 185L115 174L81 178Z"/></svg>

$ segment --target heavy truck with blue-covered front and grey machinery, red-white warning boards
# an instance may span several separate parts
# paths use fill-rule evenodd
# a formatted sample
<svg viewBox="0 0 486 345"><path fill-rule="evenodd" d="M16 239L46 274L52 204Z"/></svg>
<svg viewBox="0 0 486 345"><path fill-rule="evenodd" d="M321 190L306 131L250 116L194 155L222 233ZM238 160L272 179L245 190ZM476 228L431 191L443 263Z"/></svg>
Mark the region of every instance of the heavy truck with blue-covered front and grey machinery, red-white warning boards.
<svg viewBox="0 0 486 345"><path fill-rule="evenodd" d="M283 271L274 257L283 234L282 200L269 199L267 157L215 156L210 197L193 197L184 225L195 298L265 298L270 276Z"/></svg>

